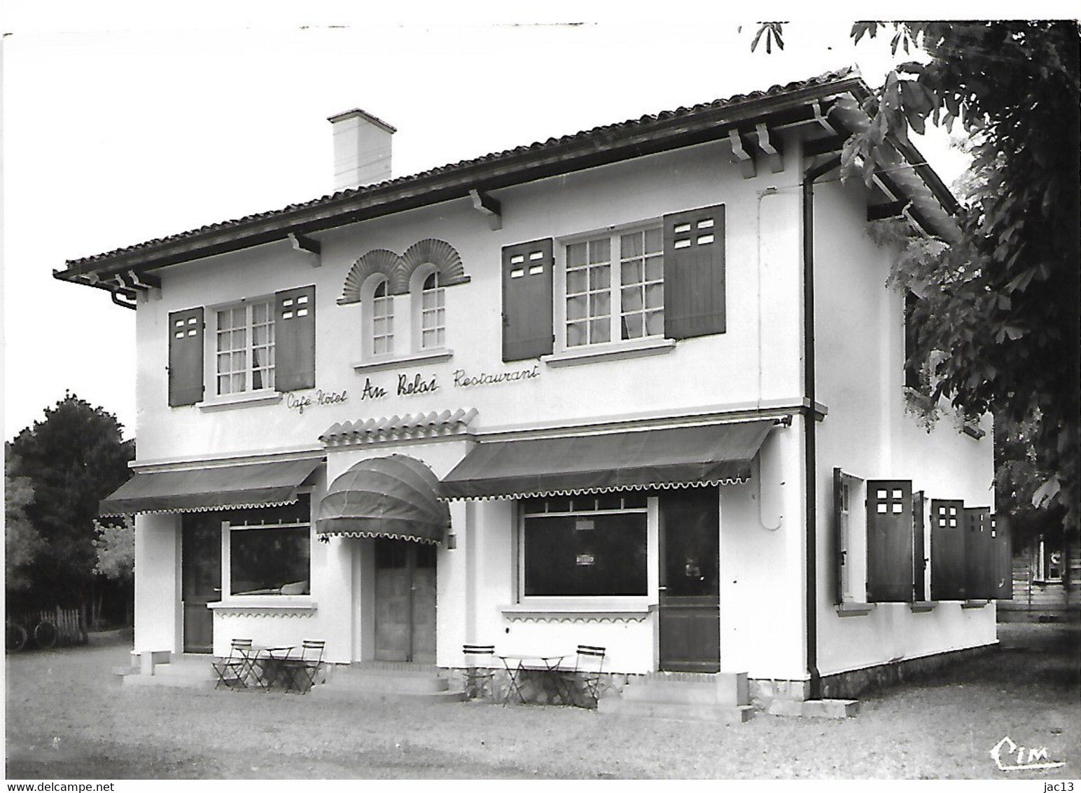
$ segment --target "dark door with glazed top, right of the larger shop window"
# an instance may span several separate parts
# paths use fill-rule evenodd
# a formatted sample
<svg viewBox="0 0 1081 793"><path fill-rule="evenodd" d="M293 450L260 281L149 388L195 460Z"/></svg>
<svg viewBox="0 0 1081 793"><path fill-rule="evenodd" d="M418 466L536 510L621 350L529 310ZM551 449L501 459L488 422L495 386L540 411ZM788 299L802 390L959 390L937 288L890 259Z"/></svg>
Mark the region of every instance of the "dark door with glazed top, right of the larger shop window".
<svg viewBox="0 0 1081 793"><path fill-rule="evenodd" d="M718 672L720 507L715 487L660 495L660 669Z"/></svg>

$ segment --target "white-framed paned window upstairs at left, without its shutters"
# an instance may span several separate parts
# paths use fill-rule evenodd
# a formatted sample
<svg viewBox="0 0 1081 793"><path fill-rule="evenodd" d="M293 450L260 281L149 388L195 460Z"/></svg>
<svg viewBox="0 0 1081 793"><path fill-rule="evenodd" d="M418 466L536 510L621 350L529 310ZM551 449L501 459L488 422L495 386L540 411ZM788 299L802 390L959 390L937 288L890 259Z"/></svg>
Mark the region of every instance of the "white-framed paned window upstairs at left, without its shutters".
<svg viewBox="0 0 1081 793"><path fill-rule="evenodd" d="M217 395L275 387L273 300L217 310Z"/></svg>

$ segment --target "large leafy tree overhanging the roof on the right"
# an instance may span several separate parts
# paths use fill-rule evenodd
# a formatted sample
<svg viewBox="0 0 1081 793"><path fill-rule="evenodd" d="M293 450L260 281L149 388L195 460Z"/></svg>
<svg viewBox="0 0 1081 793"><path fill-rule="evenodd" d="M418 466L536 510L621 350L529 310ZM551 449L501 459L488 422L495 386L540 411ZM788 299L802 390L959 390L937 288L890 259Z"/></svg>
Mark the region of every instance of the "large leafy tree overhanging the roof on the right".
<svg viewBox="0 0 1081 793"><path fill-rule="evenodd" d="M893 31L894 53L921 50L867 98L867 129L850 136L842 176L869 182L891 161L891 140L930 121L972 138L974 161L962 240L898 264L895 279L922 289L919 346L949 353L937 394L970 414L1030 422L1041 483L1033 499L1068 526L1079 483L1079 27L1060 22L856 24L854 41ZM779 23L756 36L779 38ZM753 44L752 44L753 49ZM933 288L930 288L933 285Z"/></svg>

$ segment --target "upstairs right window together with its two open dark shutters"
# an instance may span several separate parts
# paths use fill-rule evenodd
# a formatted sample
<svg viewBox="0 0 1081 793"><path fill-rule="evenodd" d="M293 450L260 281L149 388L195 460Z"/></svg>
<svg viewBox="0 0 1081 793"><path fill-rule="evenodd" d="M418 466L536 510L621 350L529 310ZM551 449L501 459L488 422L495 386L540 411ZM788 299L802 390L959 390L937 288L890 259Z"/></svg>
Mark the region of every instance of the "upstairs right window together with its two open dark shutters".
<svg viewBox="0 0 1081 793"><path fill-rule="evenodd" d="M560 246L551 238L508 246L503 359L549 355L557 340L570 351L723 333L724 270L723 204Z"/></svg>

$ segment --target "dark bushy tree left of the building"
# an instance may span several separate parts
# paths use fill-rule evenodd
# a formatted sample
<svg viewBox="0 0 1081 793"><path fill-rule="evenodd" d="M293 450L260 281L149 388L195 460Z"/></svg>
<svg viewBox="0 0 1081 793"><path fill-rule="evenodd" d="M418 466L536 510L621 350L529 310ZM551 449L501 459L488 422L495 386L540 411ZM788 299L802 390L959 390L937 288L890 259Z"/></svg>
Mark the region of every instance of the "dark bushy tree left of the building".
<svg viewBox="0 0 1081 793"><path fill-rule="evenodd" d="M23 429L9 447L13 476L25 477L35 499L25 506L42 546L28 571L38 599L62 606L85 603L96 554L97 504L131 476L134 441L103 408L66 394L44 421Z"/></svg>

